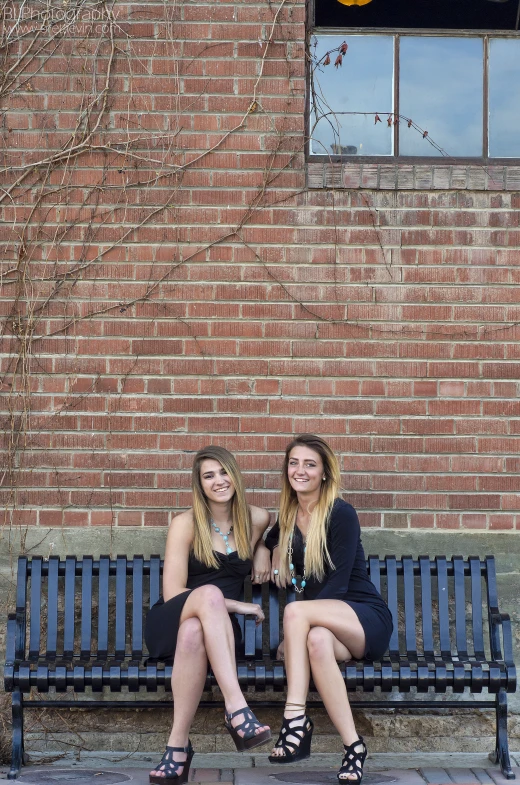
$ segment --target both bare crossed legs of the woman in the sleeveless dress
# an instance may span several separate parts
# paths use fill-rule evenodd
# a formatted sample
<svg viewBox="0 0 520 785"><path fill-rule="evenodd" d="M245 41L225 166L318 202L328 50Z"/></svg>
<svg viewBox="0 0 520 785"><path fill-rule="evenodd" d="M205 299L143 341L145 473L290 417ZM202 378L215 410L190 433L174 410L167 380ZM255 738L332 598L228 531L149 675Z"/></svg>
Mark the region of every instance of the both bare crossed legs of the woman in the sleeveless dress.
<svg viewBox="0 0 520 785"><path fill-rule="evenodd" d="M246 706L237 679L235 638L224 595L213 585L194 589L182 610L172 671L174 700L173 726L168 746L187 747L188 736L206 681L208 660L224 696L226 711L232 713ZM240 724L243 715L232 720ZM256 733L267 730L262 725ZM243 731L239 731L244 735ZM186 753L175 753L182 763ZM152 775L164 776L161 769Z"/></svg>

